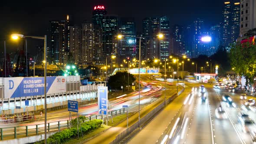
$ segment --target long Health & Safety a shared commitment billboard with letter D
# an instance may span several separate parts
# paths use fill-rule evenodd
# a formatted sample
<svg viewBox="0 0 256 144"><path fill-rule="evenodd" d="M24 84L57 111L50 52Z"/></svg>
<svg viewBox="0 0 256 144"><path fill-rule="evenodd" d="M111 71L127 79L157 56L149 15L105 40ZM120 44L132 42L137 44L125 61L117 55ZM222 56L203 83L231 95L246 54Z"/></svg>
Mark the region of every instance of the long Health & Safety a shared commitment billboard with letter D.
<svg viewBox="0 0 256 144"><path fill-rule="evenodd" d="M46 82L47 94L66 92L65 76L49 76ZM33 95L44 95L44 77L4 78L4 98Z"/></svg>

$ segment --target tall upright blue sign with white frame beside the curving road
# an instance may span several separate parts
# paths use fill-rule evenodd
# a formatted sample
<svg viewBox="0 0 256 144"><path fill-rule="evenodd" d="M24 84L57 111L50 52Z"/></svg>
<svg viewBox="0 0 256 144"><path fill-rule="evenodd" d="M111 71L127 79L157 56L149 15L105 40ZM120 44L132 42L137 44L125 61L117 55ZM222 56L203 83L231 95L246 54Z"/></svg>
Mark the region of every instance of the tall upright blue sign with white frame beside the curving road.
<svg viewBox="0 0 256 144"><path fill-rule="evenodd" d="M98 86L98 114L107 115L108 111L108 87Z"/></svg>

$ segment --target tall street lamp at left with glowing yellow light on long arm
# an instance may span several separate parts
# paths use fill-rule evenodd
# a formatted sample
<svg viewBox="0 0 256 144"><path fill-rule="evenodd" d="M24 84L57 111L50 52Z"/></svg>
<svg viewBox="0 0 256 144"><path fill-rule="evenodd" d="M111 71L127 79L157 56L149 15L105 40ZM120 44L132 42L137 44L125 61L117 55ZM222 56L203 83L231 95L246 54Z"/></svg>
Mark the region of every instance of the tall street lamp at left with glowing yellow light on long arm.
<svg viewBox="0 0 256 144"><path fill-rule="evenodd" d="M44 143L46 144L47 142L47 95L46 95L46 69L47 69L47 62L46 62L46 35L43 36L24 36L21 34L12 34L12 38L13 39L18 39L18 38L26 38L26 37L30 37L33 39L43 39L44 40L44 61L45 61L45 65L44 65L44 109L45 109L45 117L44 117Z"/></svg>

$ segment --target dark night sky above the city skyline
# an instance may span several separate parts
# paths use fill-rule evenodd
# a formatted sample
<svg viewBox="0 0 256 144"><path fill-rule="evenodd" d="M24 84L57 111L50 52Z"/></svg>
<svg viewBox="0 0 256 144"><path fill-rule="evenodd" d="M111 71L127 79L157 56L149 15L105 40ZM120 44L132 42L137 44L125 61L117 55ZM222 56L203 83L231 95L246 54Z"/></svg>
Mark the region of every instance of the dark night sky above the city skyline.
<svg viewBox="0 0 256 144"><path fill-rule="evenodd" d="M90 22L93 7L98 4L104 5L108 14L134 17L137 31L141 31L143 18L149 16L166 15L171 26L191 24L197 17L205 20L206 26L217 24L222 19L222 3L223 0L1 0L0 48L3 51L6 39L11 51L11 33L43 36L50 20L65 20L67 14L74 24ZM43 44L40 40L30 41Z"/></svg>

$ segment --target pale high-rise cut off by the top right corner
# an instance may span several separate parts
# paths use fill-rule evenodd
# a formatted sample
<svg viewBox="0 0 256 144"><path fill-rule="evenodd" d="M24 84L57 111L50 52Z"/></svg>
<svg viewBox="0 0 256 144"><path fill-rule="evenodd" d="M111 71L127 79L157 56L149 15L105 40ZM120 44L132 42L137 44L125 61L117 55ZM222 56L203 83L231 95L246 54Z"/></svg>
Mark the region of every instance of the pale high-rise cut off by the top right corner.
<svg viewBox="0 0 256 144"><path fill-rule="evenodd" d="M256 28L256 0L241 0L240 36ZM244 37L245 38L245 37Z"/></svg>

